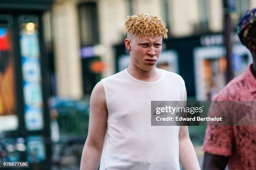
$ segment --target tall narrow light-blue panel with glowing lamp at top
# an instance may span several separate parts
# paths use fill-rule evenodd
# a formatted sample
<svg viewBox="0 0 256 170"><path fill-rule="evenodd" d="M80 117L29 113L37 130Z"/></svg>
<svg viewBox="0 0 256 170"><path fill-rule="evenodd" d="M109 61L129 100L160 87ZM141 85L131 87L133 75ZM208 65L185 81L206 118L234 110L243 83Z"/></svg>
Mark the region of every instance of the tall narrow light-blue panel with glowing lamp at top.
<svg viewBox="0 0 256 170"><path fill-rule="evenodd" d="M21 17L26 18L24 16ZM22 56L25 125L28 130L41 130L43 120L43 94L38 30L36 22L22 22L20 51Z"/></svg>

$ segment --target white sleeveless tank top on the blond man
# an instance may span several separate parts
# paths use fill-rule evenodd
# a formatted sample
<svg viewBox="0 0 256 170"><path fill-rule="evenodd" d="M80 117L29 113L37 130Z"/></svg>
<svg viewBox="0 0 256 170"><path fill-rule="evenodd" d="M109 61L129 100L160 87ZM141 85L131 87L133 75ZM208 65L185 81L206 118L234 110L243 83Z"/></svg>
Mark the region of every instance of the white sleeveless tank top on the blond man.
<svg viewBox="0 0 256 170"><path fill-rule="evenodd" d="M143 82L125 69L101 81L108 120L100 170L178 170L180 127L151 126L151 100L186 100L182 77L162 70Z"/></svg>

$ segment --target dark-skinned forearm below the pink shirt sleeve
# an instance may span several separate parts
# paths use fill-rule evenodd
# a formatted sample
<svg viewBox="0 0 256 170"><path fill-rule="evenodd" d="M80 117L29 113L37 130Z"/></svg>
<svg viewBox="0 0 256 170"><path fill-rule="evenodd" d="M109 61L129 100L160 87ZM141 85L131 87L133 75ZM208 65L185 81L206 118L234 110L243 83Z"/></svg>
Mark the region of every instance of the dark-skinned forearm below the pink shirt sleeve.
<svg viewBox="0 0 256 170"><path fill-rule="evenodd" d="M229 157L205 153L203 170L225 170Z"/></svg>

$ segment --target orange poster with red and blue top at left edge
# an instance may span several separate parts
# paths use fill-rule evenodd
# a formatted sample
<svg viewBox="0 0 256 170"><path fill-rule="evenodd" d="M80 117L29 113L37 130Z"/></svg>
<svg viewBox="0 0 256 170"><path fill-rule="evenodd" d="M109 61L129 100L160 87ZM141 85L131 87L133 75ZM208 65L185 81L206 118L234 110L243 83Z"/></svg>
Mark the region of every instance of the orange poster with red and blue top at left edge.
<svg viewBox="0 0 256 170"><path fill-rule="evenodd" d="M0 19L1 19L0 15ZM12 32L0 27L0 131L16 130L18 116L15 106L15 77Z"/></svg>

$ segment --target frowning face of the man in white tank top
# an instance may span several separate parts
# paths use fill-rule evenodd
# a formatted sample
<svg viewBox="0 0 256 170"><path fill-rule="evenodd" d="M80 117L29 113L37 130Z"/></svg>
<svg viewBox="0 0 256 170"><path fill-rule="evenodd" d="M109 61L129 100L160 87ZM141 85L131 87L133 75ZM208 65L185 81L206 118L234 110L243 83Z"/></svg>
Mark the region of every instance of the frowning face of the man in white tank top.
<svg viewBox="0 0 256 170"><path fill-rule="evenodd" d="M154 69L162 51L162 36L136 36L131 41L131 64L141 70Z"/></svg>

